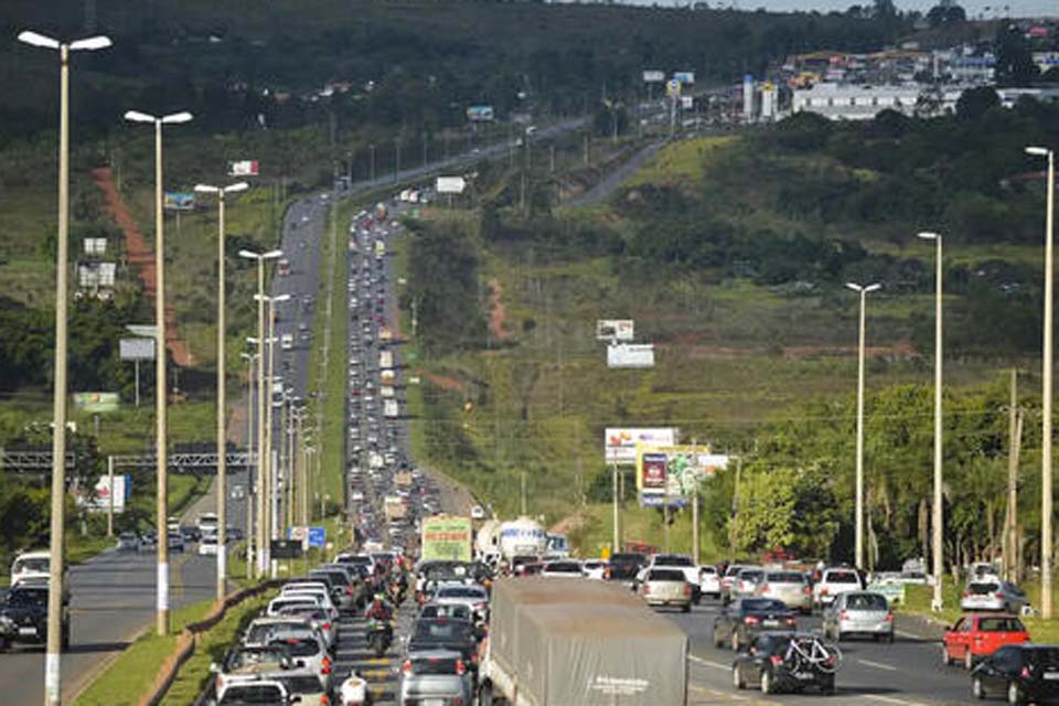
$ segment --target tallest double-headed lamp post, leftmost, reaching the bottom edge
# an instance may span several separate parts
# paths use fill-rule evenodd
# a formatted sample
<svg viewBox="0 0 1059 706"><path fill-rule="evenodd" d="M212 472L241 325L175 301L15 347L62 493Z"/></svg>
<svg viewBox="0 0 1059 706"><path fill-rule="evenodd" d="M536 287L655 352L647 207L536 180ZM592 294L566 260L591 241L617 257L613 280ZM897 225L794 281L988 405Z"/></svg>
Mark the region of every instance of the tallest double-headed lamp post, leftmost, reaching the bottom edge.
<svg viewBox="0 0 1059 706"><path fill-rule="evenodd" d="M58 52L58 247L55 258L55 384L52 396L52 520L49 539L47 645L44 657L44 704L62 702L63 532L66 524L66 300L69 248L69 53L110 46L108 36L61 42L30 30L19 41Z"/></svg>

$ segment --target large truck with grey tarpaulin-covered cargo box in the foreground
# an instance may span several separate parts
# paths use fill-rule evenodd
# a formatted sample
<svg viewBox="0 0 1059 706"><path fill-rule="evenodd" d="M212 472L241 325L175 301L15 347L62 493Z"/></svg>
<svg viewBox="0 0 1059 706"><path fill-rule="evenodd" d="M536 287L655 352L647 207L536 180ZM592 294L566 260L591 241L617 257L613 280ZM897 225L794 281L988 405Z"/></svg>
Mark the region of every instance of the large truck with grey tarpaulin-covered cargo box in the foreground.
<svg viewBox="0 0 1059 706"><path fill-rule="evenodd" d="M606 581L493 585L479 704L685 706L687 635Z"/></svg>

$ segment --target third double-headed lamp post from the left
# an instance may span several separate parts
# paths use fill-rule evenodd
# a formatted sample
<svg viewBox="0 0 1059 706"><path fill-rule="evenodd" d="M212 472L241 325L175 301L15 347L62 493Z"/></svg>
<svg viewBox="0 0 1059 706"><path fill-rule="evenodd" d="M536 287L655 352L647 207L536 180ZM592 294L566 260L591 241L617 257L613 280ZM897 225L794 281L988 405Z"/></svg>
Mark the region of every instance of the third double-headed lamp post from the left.
<svg viewBox="0 0 1059 706"><path fill-rule="evenodd" d="M245 181L227 186L211 186L195 184L195 191L201 194L217 194L217 600L223 600L227 592L227 460L225 453L225 352L224 352L224 197L231 193L246 191L249 188Z"/></svg>

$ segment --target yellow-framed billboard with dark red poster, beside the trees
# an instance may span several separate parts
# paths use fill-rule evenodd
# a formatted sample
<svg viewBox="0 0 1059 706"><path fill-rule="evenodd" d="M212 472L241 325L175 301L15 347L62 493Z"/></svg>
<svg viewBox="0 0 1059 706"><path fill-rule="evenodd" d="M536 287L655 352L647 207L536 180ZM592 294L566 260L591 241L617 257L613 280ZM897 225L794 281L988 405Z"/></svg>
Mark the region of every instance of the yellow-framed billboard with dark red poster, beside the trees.
<svg viewBox="0 0 1059 706"><path fill-rule="evenodd" d="M683 506L695 490L728 466L728 457L704 446L646 446L637 449L637 490L640 504Z"/></svg>

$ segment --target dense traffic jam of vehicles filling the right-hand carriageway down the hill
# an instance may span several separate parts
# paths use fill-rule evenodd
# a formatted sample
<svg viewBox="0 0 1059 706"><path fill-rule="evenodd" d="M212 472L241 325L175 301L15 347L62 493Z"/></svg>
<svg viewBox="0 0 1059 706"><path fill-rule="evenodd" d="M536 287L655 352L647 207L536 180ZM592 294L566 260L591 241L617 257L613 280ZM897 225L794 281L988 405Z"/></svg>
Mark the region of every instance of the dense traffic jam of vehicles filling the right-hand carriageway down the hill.
<svg viewBox="0 0 1059 706"><path fill-rule="evenodd" d="M1059 696L1059 648L1030 641L1026 595L988 564L969 567L941 664L938 639L918 638L905 641L911 664L891 667L887 651L902 646L892 601L928 582L922 566L700 565L653 547L578 559L532 517L453 506L411 463L402 415L389 255L404 196L350 226L354 546L282 586L213 665L213 704L684 706L751 700L744 689L926 703L887 687L891 672L871 686L871 665L941 680L955 696L935 703Z"/></svg>

